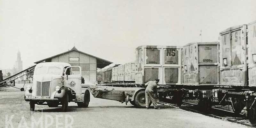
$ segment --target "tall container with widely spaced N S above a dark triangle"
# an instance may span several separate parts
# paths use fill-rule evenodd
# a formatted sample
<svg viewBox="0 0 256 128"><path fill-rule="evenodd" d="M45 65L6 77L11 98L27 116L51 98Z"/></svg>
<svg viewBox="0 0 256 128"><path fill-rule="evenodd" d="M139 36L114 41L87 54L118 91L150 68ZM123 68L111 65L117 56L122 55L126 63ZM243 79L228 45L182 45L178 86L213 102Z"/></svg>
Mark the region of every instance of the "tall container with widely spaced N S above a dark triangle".
<svg viewBox="0 0 256 128"><path fill-rule="evenodd" d="M247 86L247 25L220 32L220 84Z"/></svg>

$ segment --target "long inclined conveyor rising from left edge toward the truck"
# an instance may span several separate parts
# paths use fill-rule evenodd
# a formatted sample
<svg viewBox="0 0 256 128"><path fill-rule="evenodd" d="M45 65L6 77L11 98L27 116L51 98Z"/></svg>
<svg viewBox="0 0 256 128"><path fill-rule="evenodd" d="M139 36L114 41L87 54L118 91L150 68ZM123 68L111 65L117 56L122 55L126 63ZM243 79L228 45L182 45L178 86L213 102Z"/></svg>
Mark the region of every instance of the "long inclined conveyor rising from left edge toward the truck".
<svg viewBox="0 0 256 128"><path fill-rule="evenodd" d="M0 81L0 87L6 85L7 83L13 82L14 80L20 78L21 76L25 76L30 72L33 72L35 70L36 65L29 67L13 76L10 76L2 81Z"/></svg>

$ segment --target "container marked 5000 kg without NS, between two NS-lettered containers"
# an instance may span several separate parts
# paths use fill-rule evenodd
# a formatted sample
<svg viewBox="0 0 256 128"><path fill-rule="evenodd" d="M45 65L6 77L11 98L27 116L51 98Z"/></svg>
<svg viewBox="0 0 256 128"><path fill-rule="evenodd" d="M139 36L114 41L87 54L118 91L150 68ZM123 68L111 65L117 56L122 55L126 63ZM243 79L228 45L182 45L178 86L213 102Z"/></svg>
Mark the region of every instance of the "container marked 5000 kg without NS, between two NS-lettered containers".
<svg viewBox="0 0 256 128"><path fill-rule="evenodd" d="M219 83L219 43L189 43L183 47L183 84Z"/></svg>

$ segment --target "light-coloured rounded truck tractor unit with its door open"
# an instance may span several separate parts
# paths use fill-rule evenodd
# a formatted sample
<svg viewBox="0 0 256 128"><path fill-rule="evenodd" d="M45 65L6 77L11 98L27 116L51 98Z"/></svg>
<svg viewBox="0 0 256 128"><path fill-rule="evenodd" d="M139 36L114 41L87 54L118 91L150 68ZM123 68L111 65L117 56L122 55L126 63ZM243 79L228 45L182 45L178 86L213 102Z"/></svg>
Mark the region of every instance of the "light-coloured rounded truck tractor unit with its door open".
<svg viewBox="0 0 256 128"><path fill-rule="evenodd" d="M25 100L29 101L30 110L35 104L58 107L65 112L68 102L76 102L78 107L88 107L90 92L82 88L84 78L80 66L71 66L62 62L39 63L35 67L33 85L27 86Z"/></svg>

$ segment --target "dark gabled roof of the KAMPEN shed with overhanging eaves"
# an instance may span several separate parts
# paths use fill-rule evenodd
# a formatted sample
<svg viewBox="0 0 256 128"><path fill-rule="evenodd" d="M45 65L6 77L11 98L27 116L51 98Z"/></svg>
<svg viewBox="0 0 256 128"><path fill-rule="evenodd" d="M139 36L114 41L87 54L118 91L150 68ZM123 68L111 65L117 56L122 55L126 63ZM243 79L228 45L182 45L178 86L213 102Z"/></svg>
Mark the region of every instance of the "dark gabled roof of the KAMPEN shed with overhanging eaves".
<svg viewBox="0 0 256 128"><path fill-rule="evenodd" d="M104 60L104 59L101 59L99 57L96 57L96 56L93 56L93 55L90 55L90 54L87 54L87 53L84 53L84 52L81 52L79 50L76 49L76 47L74 46L71 50L67 51L67 52L63 52L63 53L60 53L58 55L55 55L55 56L52 56L52 57L49 57L49 58L45 58L43 60L39 60L39 61L36 61L34 63L38 64L38 63L41 63L45 60L48 60L48 59L52 59L53 57L56 57L56 56L59 56L59 55L63 55L65 53L68 53L68 52L72 52L72 51L76 51L76 52L80 52L80 53L83 53L85 55L88 55L88 56L91 56L91 57L94 57L97 59L97 68L104 68L105 66L109 65L109 64L112 64L113 62L110 62L108 60Z"/></svg>

